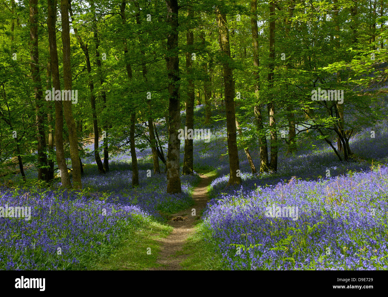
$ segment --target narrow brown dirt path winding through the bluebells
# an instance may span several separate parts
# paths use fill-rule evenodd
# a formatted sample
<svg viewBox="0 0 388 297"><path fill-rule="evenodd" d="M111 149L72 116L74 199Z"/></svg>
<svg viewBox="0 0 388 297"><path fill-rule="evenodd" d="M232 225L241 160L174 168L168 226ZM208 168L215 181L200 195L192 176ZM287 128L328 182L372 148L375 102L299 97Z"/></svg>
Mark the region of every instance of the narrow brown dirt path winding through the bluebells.
<svg viewBox="0 0 388 297"><path fill-rule="evenodd" d="M206 206L208 202L207 188L215 176L199 175L201 181L194 189L193 199L194 206L191 206L187 210L180 211L171 215L173 217L187 217L187 220L182 221L168 221L168 224L174 227L174 230L169 236L161 240L163 243L162 250L158 255L156 262L162 264L161 267L156 267L150 270L181 270L180 263L187 257L187 255L176 255L176 252L182 251L183 245L190 234L194 232L194 223L199 217L201 210ZM195 208L196 216L192 216L192 209Z"/></svg>

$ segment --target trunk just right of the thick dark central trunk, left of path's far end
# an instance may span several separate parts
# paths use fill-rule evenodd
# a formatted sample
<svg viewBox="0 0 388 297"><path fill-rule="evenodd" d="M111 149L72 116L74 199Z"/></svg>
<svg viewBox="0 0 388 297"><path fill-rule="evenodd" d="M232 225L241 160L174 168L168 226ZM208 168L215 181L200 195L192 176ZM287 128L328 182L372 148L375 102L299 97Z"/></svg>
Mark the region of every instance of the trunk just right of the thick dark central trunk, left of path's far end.
<svg viewBox="0 0 388 297"><path fill-rule="evenodd" d="M194 17L194 13L191 9L189 9L189 12L187 13L187 19L191 21L192 17ZM194 32L189 28L187 30L187 37L186 37L186 43L187 48L192 48L194 45ZM195 101L195 94L194 94L194 81L192 79L193 73L191 69L192 60L191 60L191 52L186 52L186 70L188 75L188 82L189 86L187 89L187 100L186 100L186 127L187 130L193 129L194 131L194 101ZM193 156L193 140L187 139L185 137L185 152L183 157L183 169L182 173L184 175L191 175L194 173L193 169L193 163L194 163L194 156Z"/></svg>

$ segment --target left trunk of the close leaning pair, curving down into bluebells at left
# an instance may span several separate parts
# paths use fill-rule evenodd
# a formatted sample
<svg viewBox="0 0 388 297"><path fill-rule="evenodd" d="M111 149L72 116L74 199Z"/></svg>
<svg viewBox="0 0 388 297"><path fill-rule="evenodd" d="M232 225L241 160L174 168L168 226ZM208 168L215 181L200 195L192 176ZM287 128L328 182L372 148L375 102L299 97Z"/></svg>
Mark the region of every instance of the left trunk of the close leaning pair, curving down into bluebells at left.
<svg viewBox="0 0 388 297"><path fill-rule="evenodd" d="M52 74L52 85L55 90L61 90L59 80L59 65L57 52L57 36L55 22L57 20L57 0L47 0L48 16L47 27L49 29L50 47L50 69ZM63 106L62 101L55 100L55 154L57 156L58 168L61 170L61 182L65 188L71 187L70 177L66 165L65 152L63 148Z"/></svg>

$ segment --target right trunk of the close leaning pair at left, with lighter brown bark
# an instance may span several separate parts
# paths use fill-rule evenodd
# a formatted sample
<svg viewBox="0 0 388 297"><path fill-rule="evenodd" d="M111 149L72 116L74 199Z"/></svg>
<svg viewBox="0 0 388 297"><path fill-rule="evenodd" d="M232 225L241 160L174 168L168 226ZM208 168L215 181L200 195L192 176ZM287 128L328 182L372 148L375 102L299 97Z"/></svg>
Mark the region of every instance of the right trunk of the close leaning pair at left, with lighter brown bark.
<svg viewBox="0 0 388 297"><path fill-rule="evenodd" d="M62 17L62 44L63 44L63 81L64 89L71 91L71 62L70 62L70 26L69 26L69 1L61 0ZM64 99L64 98L62 98ZM78 154L78 136L74 122L71 105L73 101L64 100L63 109L66 124L69 130L70 158L73 167L73 185L75 189L82 188L80 155Z"/></svg>

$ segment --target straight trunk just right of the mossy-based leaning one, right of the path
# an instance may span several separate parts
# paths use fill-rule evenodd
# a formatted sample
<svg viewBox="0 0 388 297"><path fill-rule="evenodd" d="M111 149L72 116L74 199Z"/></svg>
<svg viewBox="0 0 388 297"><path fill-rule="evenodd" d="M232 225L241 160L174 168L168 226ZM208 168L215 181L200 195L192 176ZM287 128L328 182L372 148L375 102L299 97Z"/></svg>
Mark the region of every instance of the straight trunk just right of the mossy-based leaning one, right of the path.
<svg viewBox="0 0 388 297"><path fill-rule="evenodd" d="M269 72L268 72L268 88L269 88L269 102L267 104L269 127L271 133L271 158L269 169L277 171L277 133L275 122L275 104L273 102L272 90L274 88L274 63L275 63L275 2L271 0L270 5L270 23L269 23Z"/></svg>

